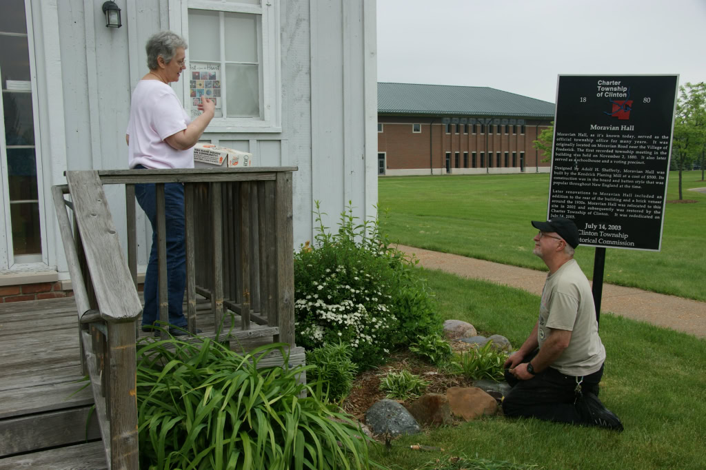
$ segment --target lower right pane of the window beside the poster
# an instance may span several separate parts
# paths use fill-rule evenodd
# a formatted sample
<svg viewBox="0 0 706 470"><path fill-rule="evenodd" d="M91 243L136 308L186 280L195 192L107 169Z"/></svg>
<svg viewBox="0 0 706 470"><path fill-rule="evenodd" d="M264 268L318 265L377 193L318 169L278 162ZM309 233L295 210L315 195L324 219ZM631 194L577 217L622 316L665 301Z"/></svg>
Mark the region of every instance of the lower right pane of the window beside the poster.
<svg viewBox="0 0 706 470"><path fill-rule="evenodd" d="M226 64L227 117L260 116L258 66Z"/></svg>

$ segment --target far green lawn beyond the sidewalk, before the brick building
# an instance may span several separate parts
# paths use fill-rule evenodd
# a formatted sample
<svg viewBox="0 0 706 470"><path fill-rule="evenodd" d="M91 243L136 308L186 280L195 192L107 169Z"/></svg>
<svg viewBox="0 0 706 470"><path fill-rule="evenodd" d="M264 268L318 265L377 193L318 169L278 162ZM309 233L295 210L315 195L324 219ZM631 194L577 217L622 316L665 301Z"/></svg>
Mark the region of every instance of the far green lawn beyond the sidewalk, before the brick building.
<svg viewBox="0 0 706 470"><path fill-rule="evenodd" d="M683 174L684 198L667 204L662 251L606 250L605 282L706 301L706 194L700 171ZM678 174L669 175L668 200L678 198ZM546 218L549 174L407 176L378 180L381 221L393 241L509 265L546 270L532 255L530 220ZM593 272L594 248L575 258Z"/></svg>

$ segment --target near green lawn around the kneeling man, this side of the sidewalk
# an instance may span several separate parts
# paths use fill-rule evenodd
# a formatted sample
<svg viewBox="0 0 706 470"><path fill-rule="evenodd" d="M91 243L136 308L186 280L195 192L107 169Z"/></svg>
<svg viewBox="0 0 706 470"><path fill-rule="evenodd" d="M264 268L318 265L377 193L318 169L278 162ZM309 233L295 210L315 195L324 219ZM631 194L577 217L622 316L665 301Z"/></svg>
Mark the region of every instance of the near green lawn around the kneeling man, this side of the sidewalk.
<svg viewBox="0 0 706 470"><path fill-rule="evenodd" d="M444 319L504 335L513 347L537 320L539 296L444 272L423 275ZM601 316L600 333L608 355L600 396L620 416L623 433L493 416L395 440L389 454L378 448L371 457L392 469L418 469L460 454L544 469L706 468L706 342L610 314ZM403 447L417 443L445 452Z"/></svg>

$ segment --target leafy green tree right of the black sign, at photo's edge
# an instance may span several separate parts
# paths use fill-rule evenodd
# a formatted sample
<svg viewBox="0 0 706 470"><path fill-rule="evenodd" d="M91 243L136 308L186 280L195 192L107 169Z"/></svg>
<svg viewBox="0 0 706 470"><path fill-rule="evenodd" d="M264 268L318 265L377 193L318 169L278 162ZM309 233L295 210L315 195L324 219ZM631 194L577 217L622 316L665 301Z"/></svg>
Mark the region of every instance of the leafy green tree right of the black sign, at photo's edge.
<svg viewBox="0 0 706 470"><path fill-rule="evenodd" d="M682 171L693 168L706 146L706 83L686 83L679 87L674 116L674 141L672 157L679 171L679 200L682 199Z"/></svg>

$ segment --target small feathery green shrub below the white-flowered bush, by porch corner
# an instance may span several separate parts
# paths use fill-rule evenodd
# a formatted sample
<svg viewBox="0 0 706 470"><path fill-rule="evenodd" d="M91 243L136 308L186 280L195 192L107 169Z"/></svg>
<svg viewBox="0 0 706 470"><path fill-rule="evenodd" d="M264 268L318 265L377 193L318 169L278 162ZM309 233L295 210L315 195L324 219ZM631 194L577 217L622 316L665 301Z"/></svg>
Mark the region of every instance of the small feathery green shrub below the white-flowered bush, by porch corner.
<svg viewBox="0 0 706 470"><path fill-rule="evenodd" d="M333 400L347 397L357 370L352 356L349 345L341 342L324 344L306 353L306 363L312 367L306 380L319 397Z"/></svg>

